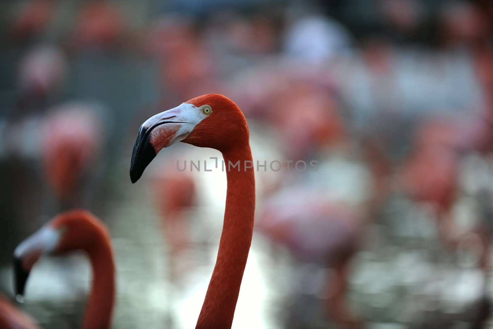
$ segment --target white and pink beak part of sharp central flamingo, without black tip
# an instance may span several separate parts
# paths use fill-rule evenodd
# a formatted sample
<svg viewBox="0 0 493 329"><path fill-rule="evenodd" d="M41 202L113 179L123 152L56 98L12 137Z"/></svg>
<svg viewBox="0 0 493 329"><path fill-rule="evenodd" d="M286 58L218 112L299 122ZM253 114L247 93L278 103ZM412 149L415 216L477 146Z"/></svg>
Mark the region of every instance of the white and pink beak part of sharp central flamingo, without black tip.
<svg viewBox="0 0 493 329"><path fill-rule="evenodd" d="M150 140L155 148L159 148L156 152L190 135L195 126L208 116L204 114L202 108L203 106L196 107L193 104L182 103L174 109L158 113L147 119L142 126L146 129L155 127L150 132Z"/></svg>

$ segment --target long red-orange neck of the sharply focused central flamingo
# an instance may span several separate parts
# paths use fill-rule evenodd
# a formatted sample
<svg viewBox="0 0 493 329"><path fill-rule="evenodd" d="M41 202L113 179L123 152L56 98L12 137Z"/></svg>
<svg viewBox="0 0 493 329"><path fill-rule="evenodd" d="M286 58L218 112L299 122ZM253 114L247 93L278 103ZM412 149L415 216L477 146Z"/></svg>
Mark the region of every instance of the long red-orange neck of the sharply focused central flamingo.
<svg viewBox="0 0 493 329"><path fill-rule="evenodd" d="M228 187L219 251L197 321L198 329L231 328L253 235L255 178L250 146L223 153ZM228 163L231 167L228 170ZM238 167L232 166L240 161Z"/></svg>

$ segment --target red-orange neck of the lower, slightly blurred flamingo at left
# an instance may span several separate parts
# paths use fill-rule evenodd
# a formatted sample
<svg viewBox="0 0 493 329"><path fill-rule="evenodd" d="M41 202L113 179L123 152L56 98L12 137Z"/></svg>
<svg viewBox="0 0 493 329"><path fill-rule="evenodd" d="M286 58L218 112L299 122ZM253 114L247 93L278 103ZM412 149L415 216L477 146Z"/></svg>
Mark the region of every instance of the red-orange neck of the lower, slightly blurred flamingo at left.
<svg viewBox="0 0 493 329"><path fill-rule="evenodd" d="M115 265L106 235L96 234L94 239L86 249L93 280L82 328L109 329L115 298Z"/></svg>

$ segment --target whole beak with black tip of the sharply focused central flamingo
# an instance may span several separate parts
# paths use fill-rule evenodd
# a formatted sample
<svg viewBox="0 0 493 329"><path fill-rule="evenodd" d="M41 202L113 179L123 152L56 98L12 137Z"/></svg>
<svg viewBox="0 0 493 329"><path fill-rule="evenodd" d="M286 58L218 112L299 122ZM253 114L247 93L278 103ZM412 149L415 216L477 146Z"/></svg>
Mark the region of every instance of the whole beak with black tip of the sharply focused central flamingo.
<svg viewBox="0 0 493 329"><path fill-rule="evenodd" d="M158 113L145 121L139 129L130 162L130 180L137 182L144 169L163 148L186 138L195 127L189 104ZM187 113L188 112L188 113Z"/></svg>

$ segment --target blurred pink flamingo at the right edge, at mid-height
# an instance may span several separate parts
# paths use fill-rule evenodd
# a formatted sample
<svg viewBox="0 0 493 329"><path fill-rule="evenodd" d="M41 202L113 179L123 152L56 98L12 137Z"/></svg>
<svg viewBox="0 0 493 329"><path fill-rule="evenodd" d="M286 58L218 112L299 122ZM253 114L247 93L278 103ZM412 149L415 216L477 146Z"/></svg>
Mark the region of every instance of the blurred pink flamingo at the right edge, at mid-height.
<svg viewBox="0 0 493 329"><path fill-rule="evenodd" d="M491 129L480 115L467 119L426 120L418 128L413 150L400 168L400 186L436 211L440 239L454 247L459 237L451 211L458 191L458 166L467 152L488 152Z"/></svg>

